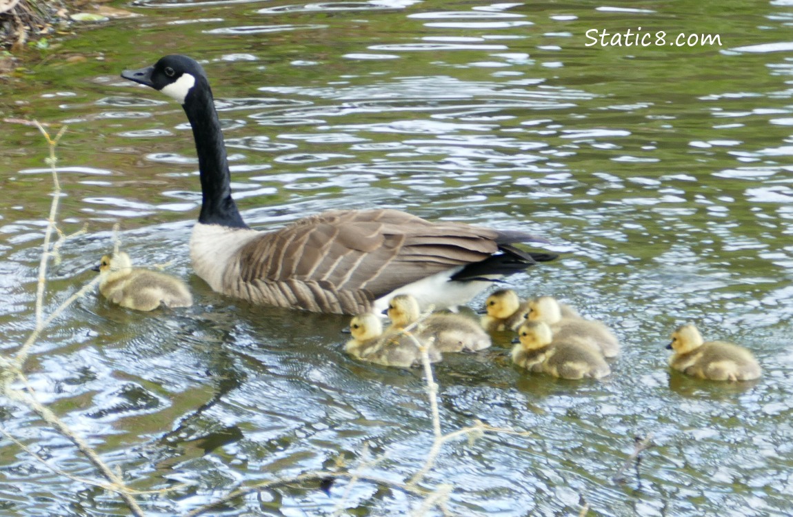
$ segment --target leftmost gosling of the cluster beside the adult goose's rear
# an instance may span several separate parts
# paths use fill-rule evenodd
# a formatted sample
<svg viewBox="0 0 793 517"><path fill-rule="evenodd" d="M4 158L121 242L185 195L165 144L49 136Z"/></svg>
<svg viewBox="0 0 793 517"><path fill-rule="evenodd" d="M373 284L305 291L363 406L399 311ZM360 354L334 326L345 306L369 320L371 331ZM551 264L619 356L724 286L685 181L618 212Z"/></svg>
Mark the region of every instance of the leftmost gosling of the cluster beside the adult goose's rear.
<svg viewBox="0 0 793 517"><path fill-rule="evenodd" d="M410 368L421 364L421 351L416 342L401 331L386 331L378 316L370 312L354 316L350 322L353 339L344 347L347 354L362 361L375 362L384 366ZM441 354L431 343L425 342L420 336L416 340L427 347L430 362L439 362Z"/></svg>

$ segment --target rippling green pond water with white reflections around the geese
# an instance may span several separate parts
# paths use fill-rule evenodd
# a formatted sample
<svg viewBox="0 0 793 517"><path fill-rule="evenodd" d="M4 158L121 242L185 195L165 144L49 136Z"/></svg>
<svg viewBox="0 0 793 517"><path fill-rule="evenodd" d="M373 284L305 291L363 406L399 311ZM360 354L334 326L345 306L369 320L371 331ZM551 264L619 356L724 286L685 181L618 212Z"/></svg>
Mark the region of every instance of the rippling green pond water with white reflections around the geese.
<svg viewBox="0 0 793 517"><path fill-rule="evenodd" d="M47 146L20 121L67 124L59 227L87 232L49 270L45 310L94 278L115 223L137 263L167 264L196 300L144 314L83 297L26 366L36 398L130 486L172 489L137 496L146 515L337 461L354 469L365 448L384 457L366 473L405 481L432 443L422 373L348 358L346 318L253 307L192 274L190 126L119 76L167 53L203 63L255 228L393 207L531 231L562 257L509 286L560 297L621 339L600 383L521 372L510 335L435 366L444 432L477 419L530 432L444 447L423 485L453 487L451 515L793 514L791 2L114 6L141 16L87 25L0 82L0 335L13 354L35 326L52 200ZM665 346L686 321L751 348L763 377L670 372ZM24 406L0 399L0 425L48 465L99 480ZM638 468L621 470L648 435ZM0 515L129 515L0 444ZM290 484L210 515L423 512L397 489L346 487Z"/></svg>

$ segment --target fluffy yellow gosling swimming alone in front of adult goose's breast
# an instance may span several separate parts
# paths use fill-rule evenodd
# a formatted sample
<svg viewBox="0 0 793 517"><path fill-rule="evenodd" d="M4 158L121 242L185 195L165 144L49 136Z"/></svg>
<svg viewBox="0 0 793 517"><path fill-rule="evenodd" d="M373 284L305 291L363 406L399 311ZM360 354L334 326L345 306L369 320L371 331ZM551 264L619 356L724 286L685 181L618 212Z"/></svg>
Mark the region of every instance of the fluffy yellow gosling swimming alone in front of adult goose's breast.
<svg viewBox="0 0 793 517"><path fill-rule="evenodd" d="M99 293L121 307L136 311L151 311L165 307L190 307L193 297L178 278L157 271L132 267L132 260L124 251L104 255L99 266L102 278Z"/></svg>

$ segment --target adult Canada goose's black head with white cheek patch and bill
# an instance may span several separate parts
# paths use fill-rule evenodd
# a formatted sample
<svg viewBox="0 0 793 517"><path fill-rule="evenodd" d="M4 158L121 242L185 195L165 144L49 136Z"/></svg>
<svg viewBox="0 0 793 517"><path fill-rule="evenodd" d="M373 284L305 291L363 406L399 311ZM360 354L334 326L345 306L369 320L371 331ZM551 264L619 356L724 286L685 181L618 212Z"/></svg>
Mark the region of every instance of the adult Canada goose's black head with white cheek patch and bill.
<svg viewBox="0 0 793 517"><path fill-rule="evenodd" d="M204 68L187 56L165 56L151 67L125 70L121 77L138 82L186 104L199 83L209 86Z"/></svg>

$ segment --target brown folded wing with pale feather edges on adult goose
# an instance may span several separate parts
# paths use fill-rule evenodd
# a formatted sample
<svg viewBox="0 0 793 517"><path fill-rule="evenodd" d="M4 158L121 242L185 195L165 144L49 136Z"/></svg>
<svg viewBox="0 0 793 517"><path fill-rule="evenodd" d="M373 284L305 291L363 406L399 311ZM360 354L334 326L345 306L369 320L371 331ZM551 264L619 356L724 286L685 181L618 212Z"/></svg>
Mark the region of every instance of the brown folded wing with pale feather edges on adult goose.
<svg viewBox="0 0 793 517"><path fill-rule="evenodd" d="M498 249L496 236L488 228L433 224L396 210L324 213L247 243L238 255L239 279L321 282L336 292L365 289L371 301L427 275L486 259Z"/></svg>

